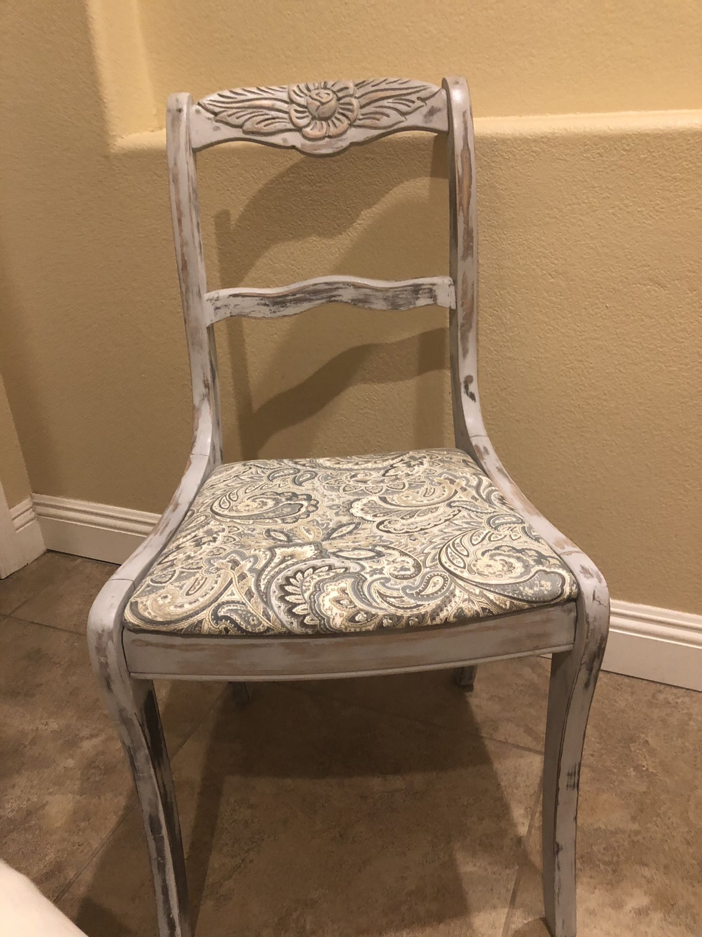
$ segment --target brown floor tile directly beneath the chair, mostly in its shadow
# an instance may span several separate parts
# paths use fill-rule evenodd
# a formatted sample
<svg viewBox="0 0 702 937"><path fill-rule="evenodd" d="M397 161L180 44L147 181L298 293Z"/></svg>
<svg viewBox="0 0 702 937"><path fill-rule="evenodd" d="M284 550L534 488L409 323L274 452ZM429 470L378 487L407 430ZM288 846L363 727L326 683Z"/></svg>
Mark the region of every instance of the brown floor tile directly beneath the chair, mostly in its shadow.
<svg viewBox="0 0 702 937"><path fill-rule="evenodd" d="M274 684L218 705L174 759L197 934L499 937L541 758L468 729ZM154 932L136 813L60 904Z"/></svg>

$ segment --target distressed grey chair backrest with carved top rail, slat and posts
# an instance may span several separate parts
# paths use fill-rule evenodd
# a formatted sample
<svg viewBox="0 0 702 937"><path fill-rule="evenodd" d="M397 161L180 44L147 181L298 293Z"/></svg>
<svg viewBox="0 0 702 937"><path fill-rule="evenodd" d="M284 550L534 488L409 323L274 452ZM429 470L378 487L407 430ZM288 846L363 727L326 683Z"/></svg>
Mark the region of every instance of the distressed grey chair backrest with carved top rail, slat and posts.
<svg viewBox="0 0 702 937"><path fill-rule="evenodd" d="M449 276L369 280L319 276L276 289L208 292L197 207L196 154L227 141L294 147L334 156L403 130L446 134L450 207ZM222 457L213 325L229 316L273 319L325 303L373 309L440 305L449 310L456 444L474 454L485 430L477 397L475 147L468 85L408 79L307 82L168 97L170 201L195 405L193 454ZM470 431L469 431L470 430Z"/></svg>

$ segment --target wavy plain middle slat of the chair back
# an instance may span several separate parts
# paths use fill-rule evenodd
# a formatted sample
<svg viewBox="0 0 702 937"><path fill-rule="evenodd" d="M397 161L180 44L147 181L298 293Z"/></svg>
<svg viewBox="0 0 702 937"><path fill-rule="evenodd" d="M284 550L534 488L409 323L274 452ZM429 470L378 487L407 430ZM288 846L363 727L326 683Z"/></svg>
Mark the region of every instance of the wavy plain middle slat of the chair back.
<svg viewBox="0 0 702 937"><path fill-rule="evenodd" d="M453 280L424 276L416 280L366 280L360 276L316 276L288 287L254 290L213 290L205 296L208 322L229 316L275 319L297 316L326 303L346 303L366 309L414 309L420 305L453 304Z"/></svg>

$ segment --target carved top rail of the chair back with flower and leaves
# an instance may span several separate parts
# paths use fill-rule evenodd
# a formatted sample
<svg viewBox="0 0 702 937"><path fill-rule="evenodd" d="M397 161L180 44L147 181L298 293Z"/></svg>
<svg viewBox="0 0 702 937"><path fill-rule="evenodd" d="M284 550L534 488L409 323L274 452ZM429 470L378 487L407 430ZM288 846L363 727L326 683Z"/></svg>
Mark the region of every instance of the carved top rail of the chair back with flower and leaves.
<svg viewBox="0 0 702 937"><path fill-rule="evenodd" d="M331 156L401 130L446 132L440 88L397 78L231 88L203 97L192 116L196 150L247 140Z"/></svg>

